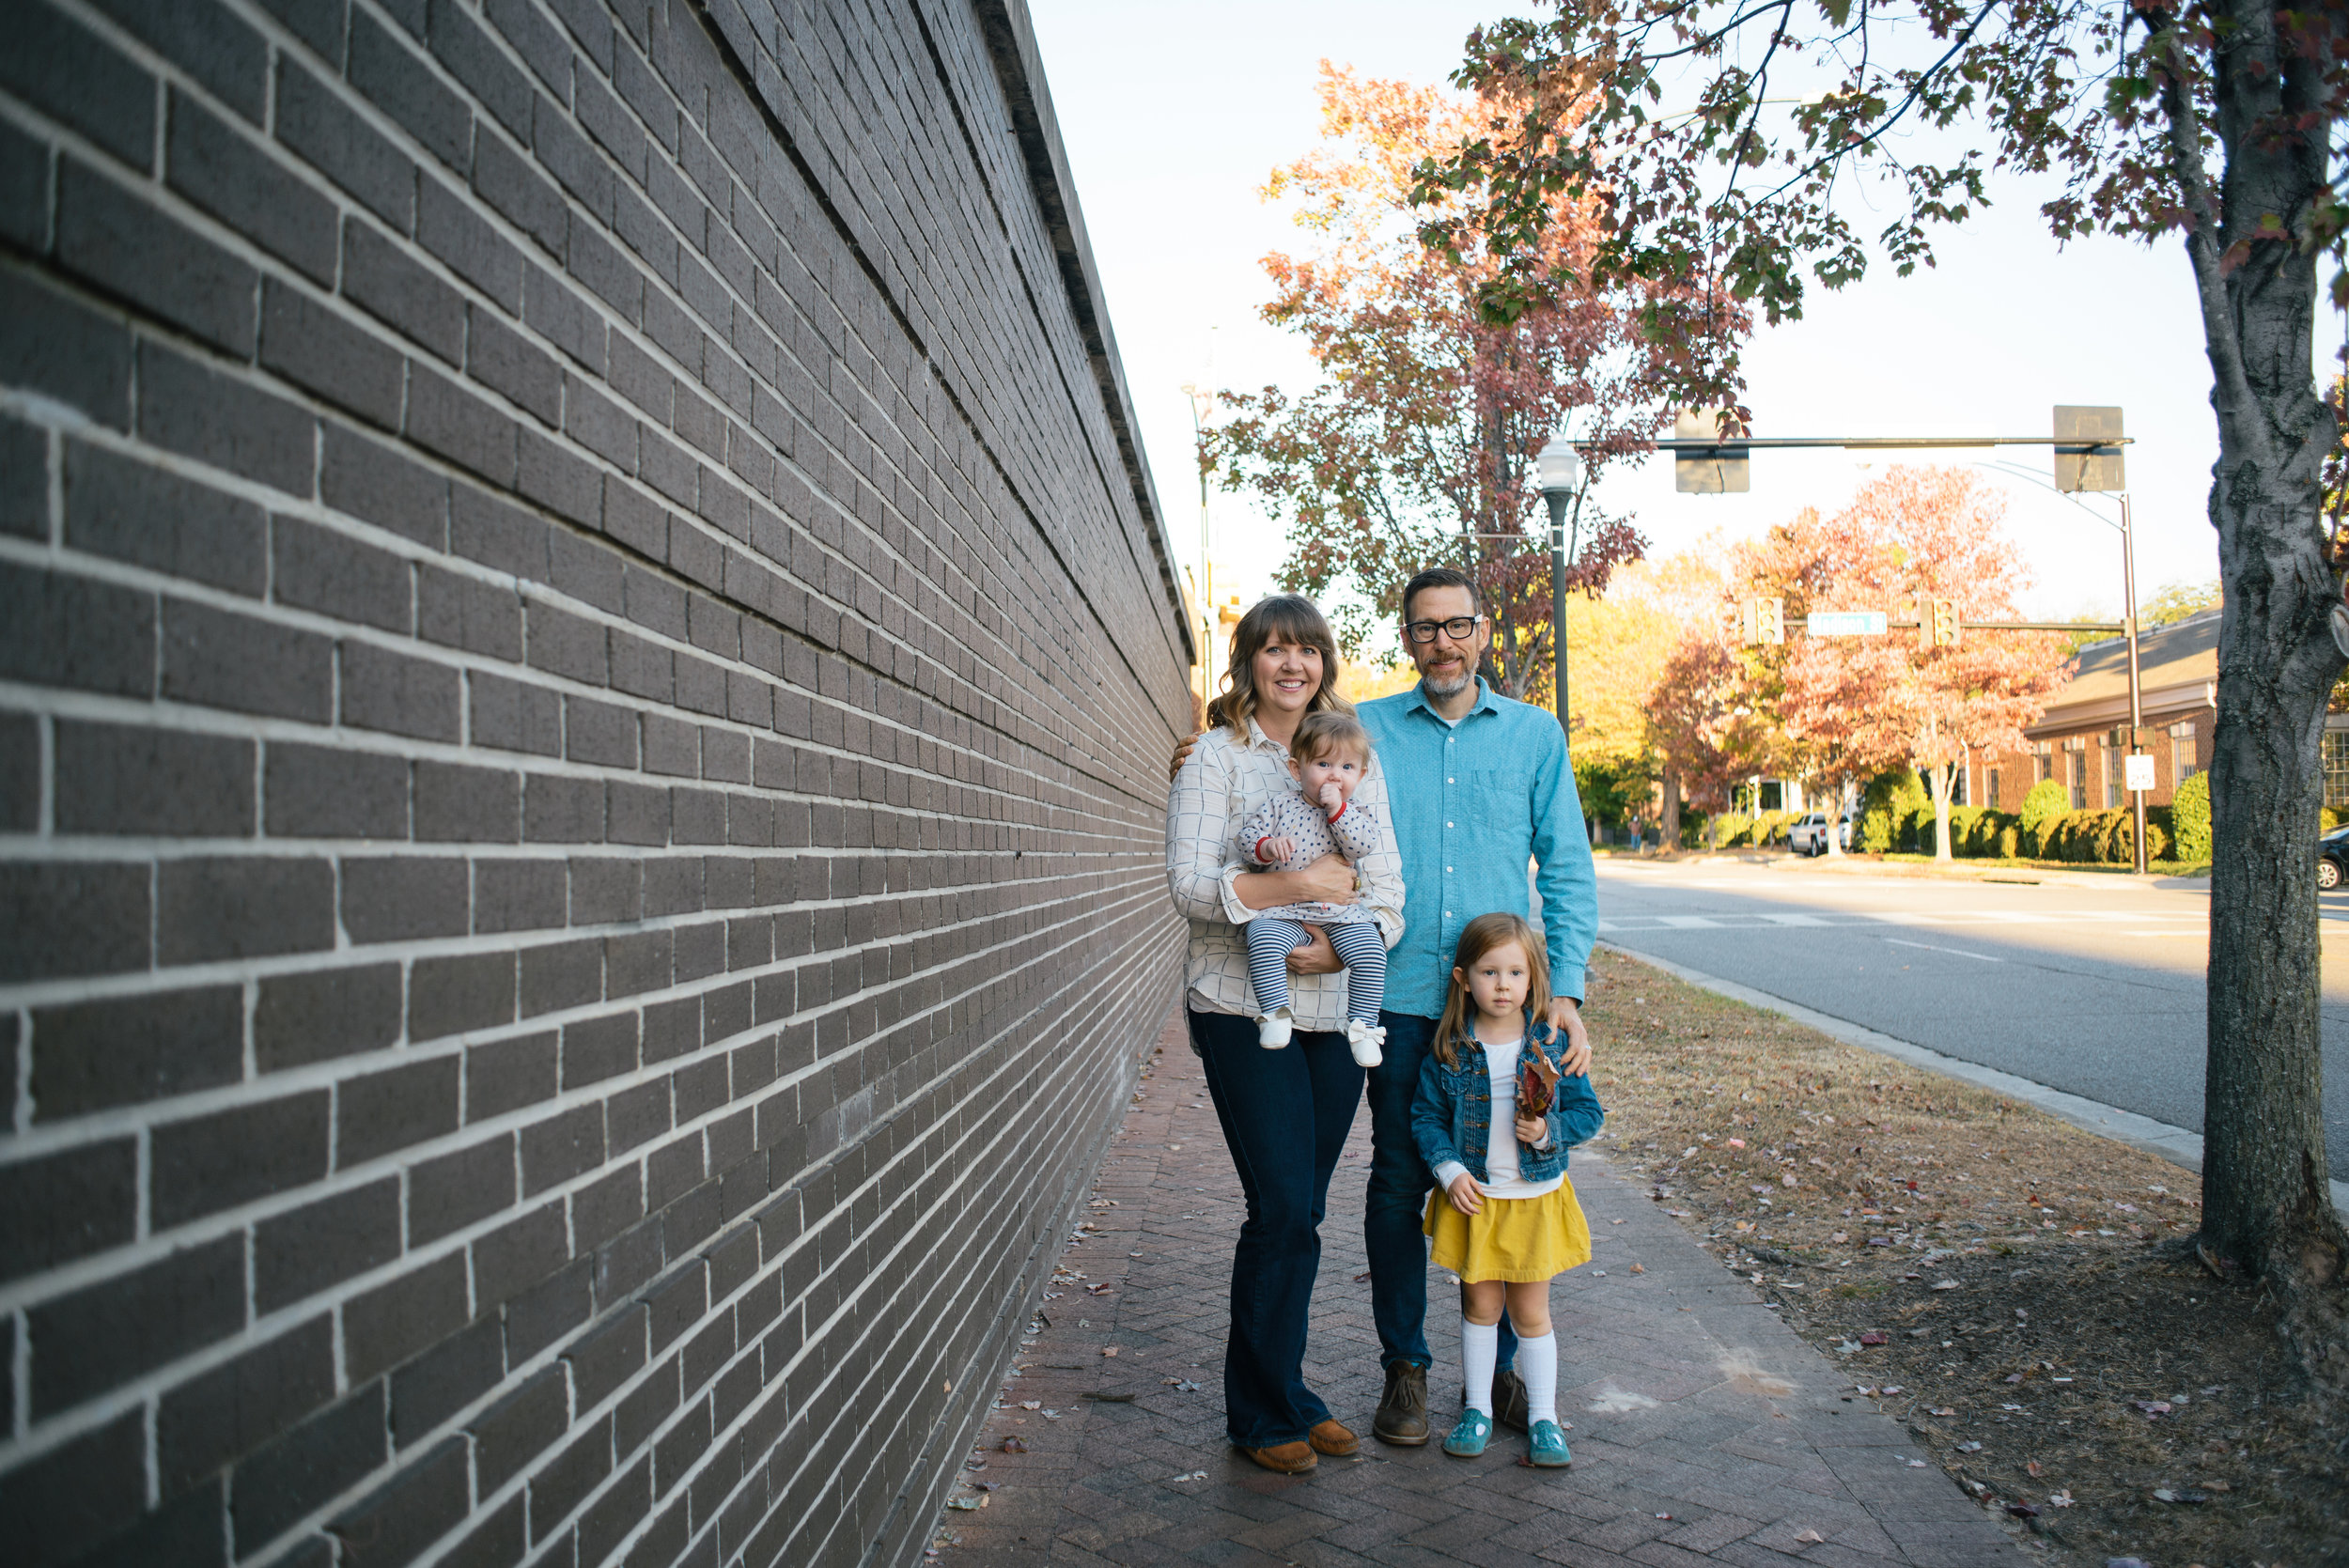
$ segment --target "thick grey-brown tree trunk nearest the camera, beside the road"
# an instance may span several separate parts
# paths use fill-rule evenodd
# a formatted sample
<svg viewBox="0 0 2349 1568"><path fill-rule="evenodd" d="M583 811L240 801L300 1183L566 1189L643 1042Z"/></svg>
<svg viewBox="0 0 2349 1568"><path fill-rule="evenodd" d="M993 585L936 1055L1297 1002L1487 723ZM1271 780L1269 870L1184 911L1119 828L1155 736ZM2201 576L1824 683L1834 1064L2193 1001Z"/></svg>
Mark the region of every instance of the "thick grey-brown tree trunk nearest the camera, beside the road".
<svg viewBox="0 0 2349 1568"><path fill-rule="evenodd" d="M2180 181L2203 218L2187 254L2220 432L2203 1242L2253 1272L2314 1284L2340 1275L2349 1242L2326 1188L2311 852L2326 695L2344 662L2326 627L2340 577L2318 516L2335 425L2309 371L2314 256L2262 242L2232 272L2220 258L2257 232L2260 214L2293 228L2307 218L2326 192L2326 136L2260 129L2321 101L2311 70L2276 38L2276 14L2232 0L2217 23L2227 42L2213 56L2215 129L2227 169L2215 202L2201 157L2187 157L2192 110L2175 92L2168 101ZM2222 225L2213 223L2220 214Z"/></svg>

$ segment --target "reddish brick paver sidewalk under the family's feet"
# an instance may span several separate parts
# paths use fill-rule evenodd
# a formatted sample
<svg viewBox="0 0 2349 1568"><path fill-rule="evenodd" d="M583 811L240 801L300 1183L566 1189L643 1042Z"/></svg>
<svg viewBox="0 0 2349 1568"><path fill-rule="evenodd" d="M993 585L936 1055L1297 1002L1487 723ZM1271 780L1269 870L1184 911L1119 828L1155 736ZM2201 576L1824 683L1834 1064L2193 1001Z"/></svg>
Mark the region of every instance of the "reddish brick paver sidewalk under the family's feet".
<svg viewBox="0 0 2349 1568"><path fill-rule="evenodd" d="M1379 1343L1362 1275L1369 1113L1330 1190L1306 1378L1362 1455L1273 1476L1224 1441L1221 1347L1240 1188L1179 1023L1125 1117L984 1444L942 1568L994 1563L1576 1563L2015 1568L2022 1554L1818 1352L1604 1160L1574 1155L1597 1251L1557 1282L1574 1469L1369 1439ZM1454 1293L1431 1272L1438 1434L1459 1413ZM1029 1411L1022 1401L1036 1401ZM1003 1453L1005 1437L1027 1453ZM991 1491L977 1491L980 1483Z"/></svg>

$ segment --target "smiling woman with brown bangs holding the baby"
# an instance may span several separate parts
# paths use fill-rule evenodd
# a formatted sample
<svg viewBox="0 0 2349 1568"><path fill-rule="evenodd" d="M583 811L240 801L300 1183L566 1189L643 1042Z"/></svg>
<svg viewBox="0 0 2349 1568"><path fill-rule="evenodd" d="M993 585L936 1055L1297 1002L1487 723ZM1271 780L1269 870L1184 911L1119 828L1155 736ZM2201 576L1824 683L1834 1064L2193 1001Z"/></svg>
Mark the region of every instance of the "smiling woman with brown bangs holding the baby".
<svg viewBox="0 0 2349 1568"><path fill-rule="evenodd" d="M1353 796L1377 817L1374 850L1360 864L1327 854L1304 871L1250 871L1233 836L1273 791L1297 789L1287 768L1297 723L1318 709L1351 711L1337 695L1337 643L1311 599L1259 601L1231 634L1224 692L1207 704L1210 728L1167 798L1167 885L1191 920L1184 965L1191 1049L1205 1063L1207 1094L1247 1195L1231 1258L1224 1422L1233 1446L1283 1474L1360 1446L1306 1387L1304 1354L1322 1204L1362 1099L1362 1068L1346 1047L1344 974L1292 976L1290 1045L1257 1042L1240 927L1259 908L1360 899L1386 946L1395 946L1402 859L1377 758ZM1315 934L1313 946L1322 944L1327 937Z"/></svg>

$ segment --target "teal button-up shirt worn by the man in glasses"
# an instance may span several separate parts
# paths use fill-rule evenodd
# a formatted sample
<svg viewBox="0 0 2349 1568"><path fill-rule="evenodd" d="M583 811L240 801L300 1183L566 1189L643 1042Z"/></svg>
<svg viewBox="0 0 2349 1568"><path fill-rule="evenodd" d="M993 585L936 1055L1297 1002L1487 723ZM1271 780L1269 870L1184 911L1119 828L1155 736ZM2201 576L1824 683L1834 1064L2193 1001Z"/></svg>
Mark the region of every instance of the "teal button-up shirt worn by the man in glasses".
<svg viewBox="0 0 2349 1568"><path fill-rule="evenodd" d="M1386 1009L1440 1016L1461 927L1506 908L1534 918L1541 892L1550 993L1583 995L1600 930L1597 876L1557 718L1478 681L1478 704L1445 723L1419 688L1365 702L1386 810L1402 850L1402 941L1386 955Z"/></svg>

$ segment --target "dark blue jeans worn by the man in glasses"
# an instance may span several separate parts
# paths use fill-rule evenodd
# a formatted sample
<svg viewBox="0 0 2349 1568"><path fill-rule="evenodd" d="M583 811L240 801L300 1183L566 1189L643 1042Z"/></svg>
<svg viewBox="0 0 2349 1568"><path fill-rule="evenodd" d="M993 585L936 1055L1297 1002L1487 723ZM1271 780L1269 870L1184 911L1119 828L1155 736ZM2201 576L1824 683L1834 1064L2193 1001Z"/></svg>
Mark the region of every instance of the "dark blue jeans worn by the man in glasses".
<svg viewBox="0 0 2349 1568"><path fill-rule="evenodd" d="M1379 1324L1379 1366L1428 1366L1428 1192L1435 1176L1412 1141L1419 1063L1435 1040L1435 1019L1381 1012L1386 1061L1369 1070L1369 1190L1362 1199L1362 1246L1369 1253L1369 1314ZM1517 1364L1517 1331L1501 1314L1496 1371Z"/></svg>

